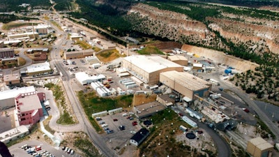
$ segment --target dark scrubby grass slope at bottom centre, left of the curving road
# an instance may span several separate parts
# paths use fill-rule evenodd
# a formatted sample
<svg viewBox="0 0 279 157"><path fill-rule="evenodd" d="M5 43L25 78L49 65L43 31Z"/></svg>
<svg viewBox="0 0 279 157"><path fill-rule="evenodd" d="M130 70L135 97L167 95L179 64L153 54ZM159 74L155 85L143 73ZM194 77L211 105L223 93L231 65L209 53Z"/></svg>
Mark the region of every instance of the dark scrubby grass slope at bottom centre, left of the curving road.
<svg viewBox="0 0 279 157"><path fill-rule="evenodd" d="M180 125L191 128L181 120L178 114L167 108L166 110L158 112L158 114L154 114L151 119L153 127L150 129L149 137L147 137L145 142L139 147L139 156L143 154L145 156L191 156L191 147L186 145L183 141L176 141L176 134L182 133L181 130L179 130ZM158 143L160 143L160 145L158 145ZM194 156L201 156L201 154L196 150Z"/></svg>

